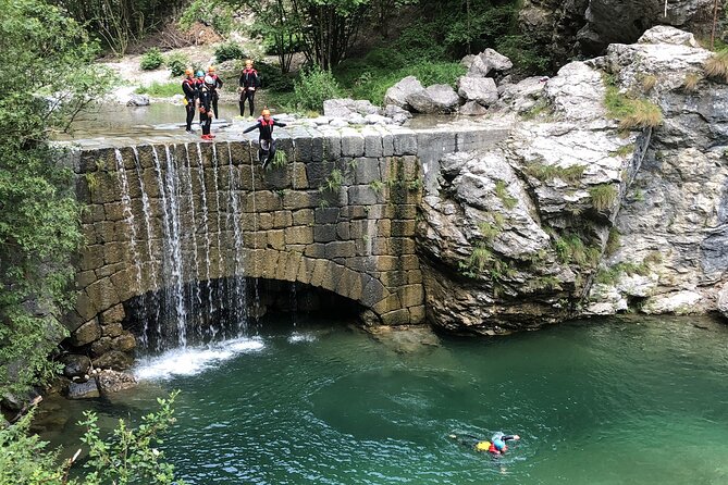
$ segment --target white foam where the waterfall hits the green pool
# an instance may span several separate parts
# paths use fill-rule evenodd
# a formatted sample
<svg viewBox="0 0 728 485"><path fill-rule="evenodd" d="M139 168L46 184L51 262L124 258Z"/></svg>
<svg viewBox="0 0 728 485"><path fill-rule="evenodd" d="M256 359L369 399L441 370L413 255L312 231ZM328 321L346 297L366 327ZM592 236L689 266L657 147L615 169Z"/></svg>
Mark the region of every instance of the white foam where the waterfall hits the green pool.
<svg viewBox="0 0 728 485"><path fill-rule="evenodd" d="M240 353L256 352L264 347L260 338L236 338L208 347L186 347L161 356L139 359L134 375L139 381L163 381L176 375L195 375L214 369Z"/></svg>

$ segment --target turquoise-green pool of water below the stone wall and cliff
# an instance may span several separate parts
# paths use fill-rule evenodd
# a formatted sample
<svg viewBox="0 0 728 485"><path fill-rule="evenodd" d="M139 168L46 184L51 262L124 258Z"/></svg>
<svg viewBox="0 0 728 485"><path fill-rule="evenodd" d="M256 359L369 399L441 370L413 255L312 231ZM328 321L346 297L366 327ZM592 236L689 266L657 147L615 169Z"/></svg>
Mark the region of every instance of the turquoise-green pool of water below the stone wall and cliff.
<svg viewBox="0 0 728 485"><path fill-rule="evenodd" d="M257 334L207 369L199 352L148 362L138 389L92 407L135 416L181 389L164 449L192 484L728 483L721 324L610 320L409 353L345 325ZM521 436L498 460L448 438L496 431Z"/></svg>

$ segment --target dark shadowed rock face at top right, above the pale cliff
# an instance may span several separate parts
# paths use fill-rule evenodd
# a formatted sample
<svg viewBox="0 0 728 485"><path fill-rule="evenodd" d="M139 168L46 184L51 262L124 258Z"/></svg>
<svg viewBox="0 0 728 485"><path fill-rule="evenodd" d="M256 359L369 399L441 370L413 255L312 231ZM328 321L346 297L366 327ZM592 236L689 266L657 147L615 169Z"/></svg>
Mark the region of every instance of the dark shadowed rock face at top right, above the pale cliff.
<svg viewBox="0 0 728 485"><path fill-rule="evenodd" d="M575 55L600 55L609 43L634 42L655 25L710 35L714 5L714 0L669 1L667 8L664 0L526 0L520 23L560 65Z"/></svg>

